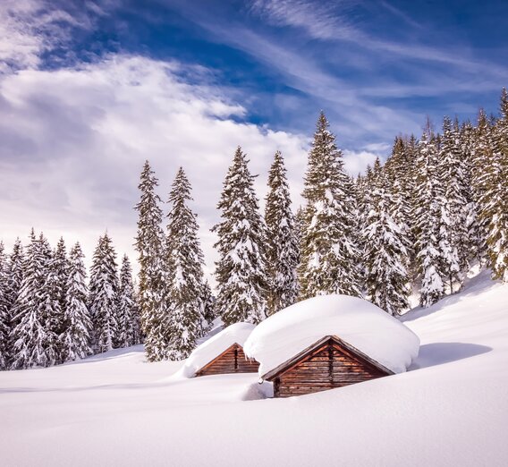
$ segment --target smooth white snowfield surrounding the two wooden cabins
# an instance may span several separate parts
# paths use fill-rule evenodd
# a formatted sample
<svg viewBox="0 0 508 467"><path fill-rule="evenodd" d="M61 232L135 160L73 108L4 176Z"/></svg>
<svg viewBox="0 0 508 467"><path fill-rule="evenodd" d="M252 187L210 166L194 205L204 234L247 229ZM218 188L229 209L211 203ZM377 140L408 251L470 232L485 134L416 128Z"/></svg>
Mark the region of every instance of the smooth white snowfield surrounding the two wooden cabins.
<svg viewBox="0 0 508 467"><path fill-rule="evenodd" d="M140 346L3 372L0 464L508 465L508 285L482 273L404 321L411 371L298 398L264 399L256 374L179 378Z"/></svg>

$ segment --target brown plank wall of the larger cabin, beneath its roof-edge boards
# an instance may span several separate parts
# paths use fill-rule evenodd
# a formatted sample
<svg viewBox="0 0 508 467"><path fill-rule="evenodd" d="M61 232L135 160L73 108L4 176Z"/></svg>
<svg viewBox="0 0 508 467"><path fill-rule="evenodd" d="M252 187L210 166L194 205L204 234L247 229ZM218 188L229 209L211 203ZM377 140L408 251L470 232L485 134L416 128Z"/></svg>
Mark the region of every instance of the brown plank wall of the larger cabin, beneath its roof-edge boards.
<svg viewBox="0 0 508 467"><path fill-rule="evenodd" d="M324 343L308 359L297 363L274 381L275 397L305 395L385 376L379 369L358 361L339 345Z"/></svg>

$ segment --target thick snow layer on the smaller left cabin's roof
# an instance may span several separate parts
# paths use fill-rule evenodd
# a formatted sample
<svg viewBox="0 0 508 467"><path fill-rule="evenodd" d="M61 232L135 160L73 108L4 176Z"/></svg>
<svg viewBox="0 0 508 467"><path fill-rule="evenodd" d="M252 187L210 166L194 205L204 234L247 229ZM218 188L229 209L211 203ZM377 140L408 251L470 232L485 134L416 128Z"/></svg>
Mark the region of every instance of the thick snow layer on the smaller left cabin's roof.
<svg viewBox="0 0 508 467"><path fill-rule="evenodd" d="M251 323L235 323L198 345L185 361L182 367L182 376L192 378L199 369L202 369L233 344L243 346L254 327Z"/></svg>

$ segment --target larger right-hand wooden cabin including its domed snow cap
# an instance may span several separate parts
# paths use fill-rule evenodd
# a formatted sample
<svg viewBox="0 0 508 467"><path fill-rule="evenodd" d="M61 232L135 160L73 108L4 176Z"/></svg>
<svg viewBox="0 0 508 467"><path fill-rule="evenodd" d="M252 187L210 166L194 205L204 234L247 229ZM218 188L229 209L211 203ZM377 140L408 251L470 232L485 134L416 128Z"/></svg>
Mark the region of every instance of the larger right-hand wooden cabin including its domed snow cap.
<svg viewBox="0 0 508 467"><path fill-rule="evenodd" d="M267 318L244 351L275 397L287 397L401 373L418 356L419 338L369 301L323 295Z"/></svg>

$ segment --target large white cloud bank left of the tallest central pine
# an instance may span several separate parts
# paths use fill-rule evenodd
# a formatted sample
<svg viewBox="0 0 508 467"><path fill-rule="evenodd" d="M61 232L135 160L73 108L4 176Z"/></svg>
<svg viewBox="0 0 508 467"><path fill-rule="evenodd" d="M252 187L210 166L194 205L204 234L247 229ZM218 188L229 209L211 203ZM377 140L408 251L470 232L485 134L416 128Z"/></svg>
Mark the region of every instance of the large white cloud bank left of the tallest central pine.
<svg viewBox="0 0 508 467"><path fill-rule="evenodd" d="M0 81L0 213L7 244L33 225L55 242L83 242L88 258L107 228L133 255L137 185L150 160L167 196L178 166L194 188L208 271L213 269L216 202L237 145L248 153L264 196L276 149L286 157L295 200L308 140L230 117L245 109L220 89L181 81L192 69L112 56L80 69L25 70ZM25 237L26 238L26 237Z"/></svg>

